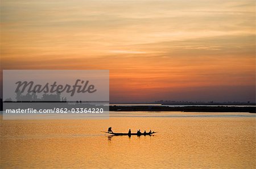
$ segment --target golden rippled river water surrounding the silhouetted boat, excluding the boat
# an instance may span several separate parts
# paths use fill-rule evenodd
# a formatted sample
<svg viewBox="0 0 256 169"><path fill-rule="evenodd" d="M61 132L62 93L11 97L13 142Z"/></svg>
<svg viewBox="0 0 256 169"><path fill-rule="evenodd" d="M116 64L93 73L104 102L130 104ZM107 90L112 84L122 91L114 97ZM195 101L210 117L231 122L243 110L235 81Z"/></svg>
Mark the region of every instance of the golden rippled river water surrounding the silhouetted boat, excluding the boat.
<svg viewBox="0 0 256 169"><path fill-rule="evenodd" d="M0 168L255 168L251 113L111 112L109 120L1 120ZM137 129L154 136L108 137Z"/></svg>

